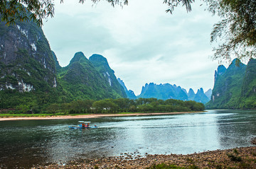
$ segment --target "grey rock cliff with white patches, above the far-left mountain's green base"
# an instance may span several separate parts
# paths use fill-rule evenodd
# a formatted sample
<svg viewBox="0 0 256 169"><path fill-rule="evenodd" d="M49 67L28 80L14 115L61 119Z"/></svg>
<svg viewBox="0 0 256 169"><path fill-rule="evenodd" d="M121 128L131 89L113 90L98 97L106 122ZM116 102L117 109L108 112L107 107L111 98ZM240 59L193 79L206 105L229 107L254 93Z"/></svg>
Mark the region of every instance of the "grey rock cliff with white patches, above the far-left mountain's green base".
<svg viewBox="0 0 256 169"><path fill-rule="evenodd" d="M0 90L50 91L57 86L55 62L35 23L0 23Z"/></svg>

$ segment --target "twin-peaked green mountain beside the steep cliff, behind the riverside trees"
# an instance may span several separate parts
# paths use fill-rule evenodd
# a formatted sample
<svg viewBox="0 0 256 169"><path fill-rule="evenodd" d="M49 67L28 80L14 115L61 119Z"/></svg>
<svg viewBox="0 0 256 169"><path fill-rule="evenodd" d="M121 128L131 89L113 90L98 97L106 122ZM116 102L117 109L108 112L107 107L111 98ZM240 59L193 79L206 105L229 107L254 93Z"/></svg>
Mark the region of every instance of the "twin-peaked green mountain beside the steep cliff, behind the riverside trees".
<svg viewBox="0 0 256 169"><path fill-rule="evenodd" d="M58 84L63 90L65 101L126 98L107 59L101 59L105 62L91 62L82 52L77 52L68 66L58 69Z"/></svg>

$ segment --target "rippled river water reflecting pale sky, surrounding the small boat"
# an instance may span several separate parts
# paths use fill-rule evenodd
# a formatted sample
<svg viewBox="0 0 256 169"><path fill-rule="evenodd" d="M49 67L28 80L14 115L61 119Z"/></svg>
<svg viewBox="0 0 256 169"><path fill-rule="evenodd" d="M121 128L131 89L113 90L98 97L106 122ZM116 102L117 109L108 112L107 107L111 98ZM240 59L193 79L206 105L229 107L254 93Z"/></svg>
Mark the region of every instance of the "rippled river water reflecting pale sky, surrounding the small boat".
<svg viewBox="0 0 256 169"><path fill-rule="evenodd" d="M0 168L65 164L120 153L188 154L253 146L250 140L256 136L256 110L102 117L90 122L98 128L69 129L77 119L1 121Z"/></svg>

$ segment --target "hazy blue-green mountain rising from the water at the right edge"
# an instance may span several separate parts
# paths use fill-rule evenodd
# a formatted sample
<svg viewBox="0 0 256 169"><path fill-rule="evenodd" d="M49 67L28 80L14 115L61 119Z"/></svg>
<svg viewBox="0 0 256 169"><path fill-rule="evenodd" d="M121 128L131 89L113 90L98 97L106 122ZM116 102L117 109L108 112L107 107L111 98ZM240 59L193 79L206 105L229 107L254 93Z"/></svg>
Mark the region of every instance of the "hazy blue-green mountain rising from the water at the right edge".
<svg viewBox="0 0 256 169"><path fill-rule="evenodd" d="M234 59L228 69L219 66L215 72L213 94L207 108L255 109L255 59L247 66Z"/></svg>

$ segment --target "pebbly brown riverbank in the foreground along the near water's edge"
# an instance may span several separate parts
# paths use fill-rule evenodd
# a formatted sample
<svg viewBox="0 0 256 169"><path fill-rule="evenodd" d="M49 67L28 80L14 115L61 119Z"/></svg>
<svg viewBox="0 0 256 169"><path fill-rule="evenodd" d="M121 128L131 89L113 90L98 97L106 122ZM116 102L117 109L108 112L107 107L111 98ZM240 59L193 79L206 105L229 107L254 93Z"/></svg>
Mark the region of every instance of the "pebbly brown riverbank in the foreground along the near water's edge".
<svg viewBox="0 0 256 169"><path fill-rule="evenodd" d="M162 163L164 163L163 166L175 165L180 168L256 168L256 147L207 151L189 155L147 155L145 158L139 158L136 154L126 154L90 161L71 161L67 165L53 164L35 168L164 168L159 165Z"/></svg>

